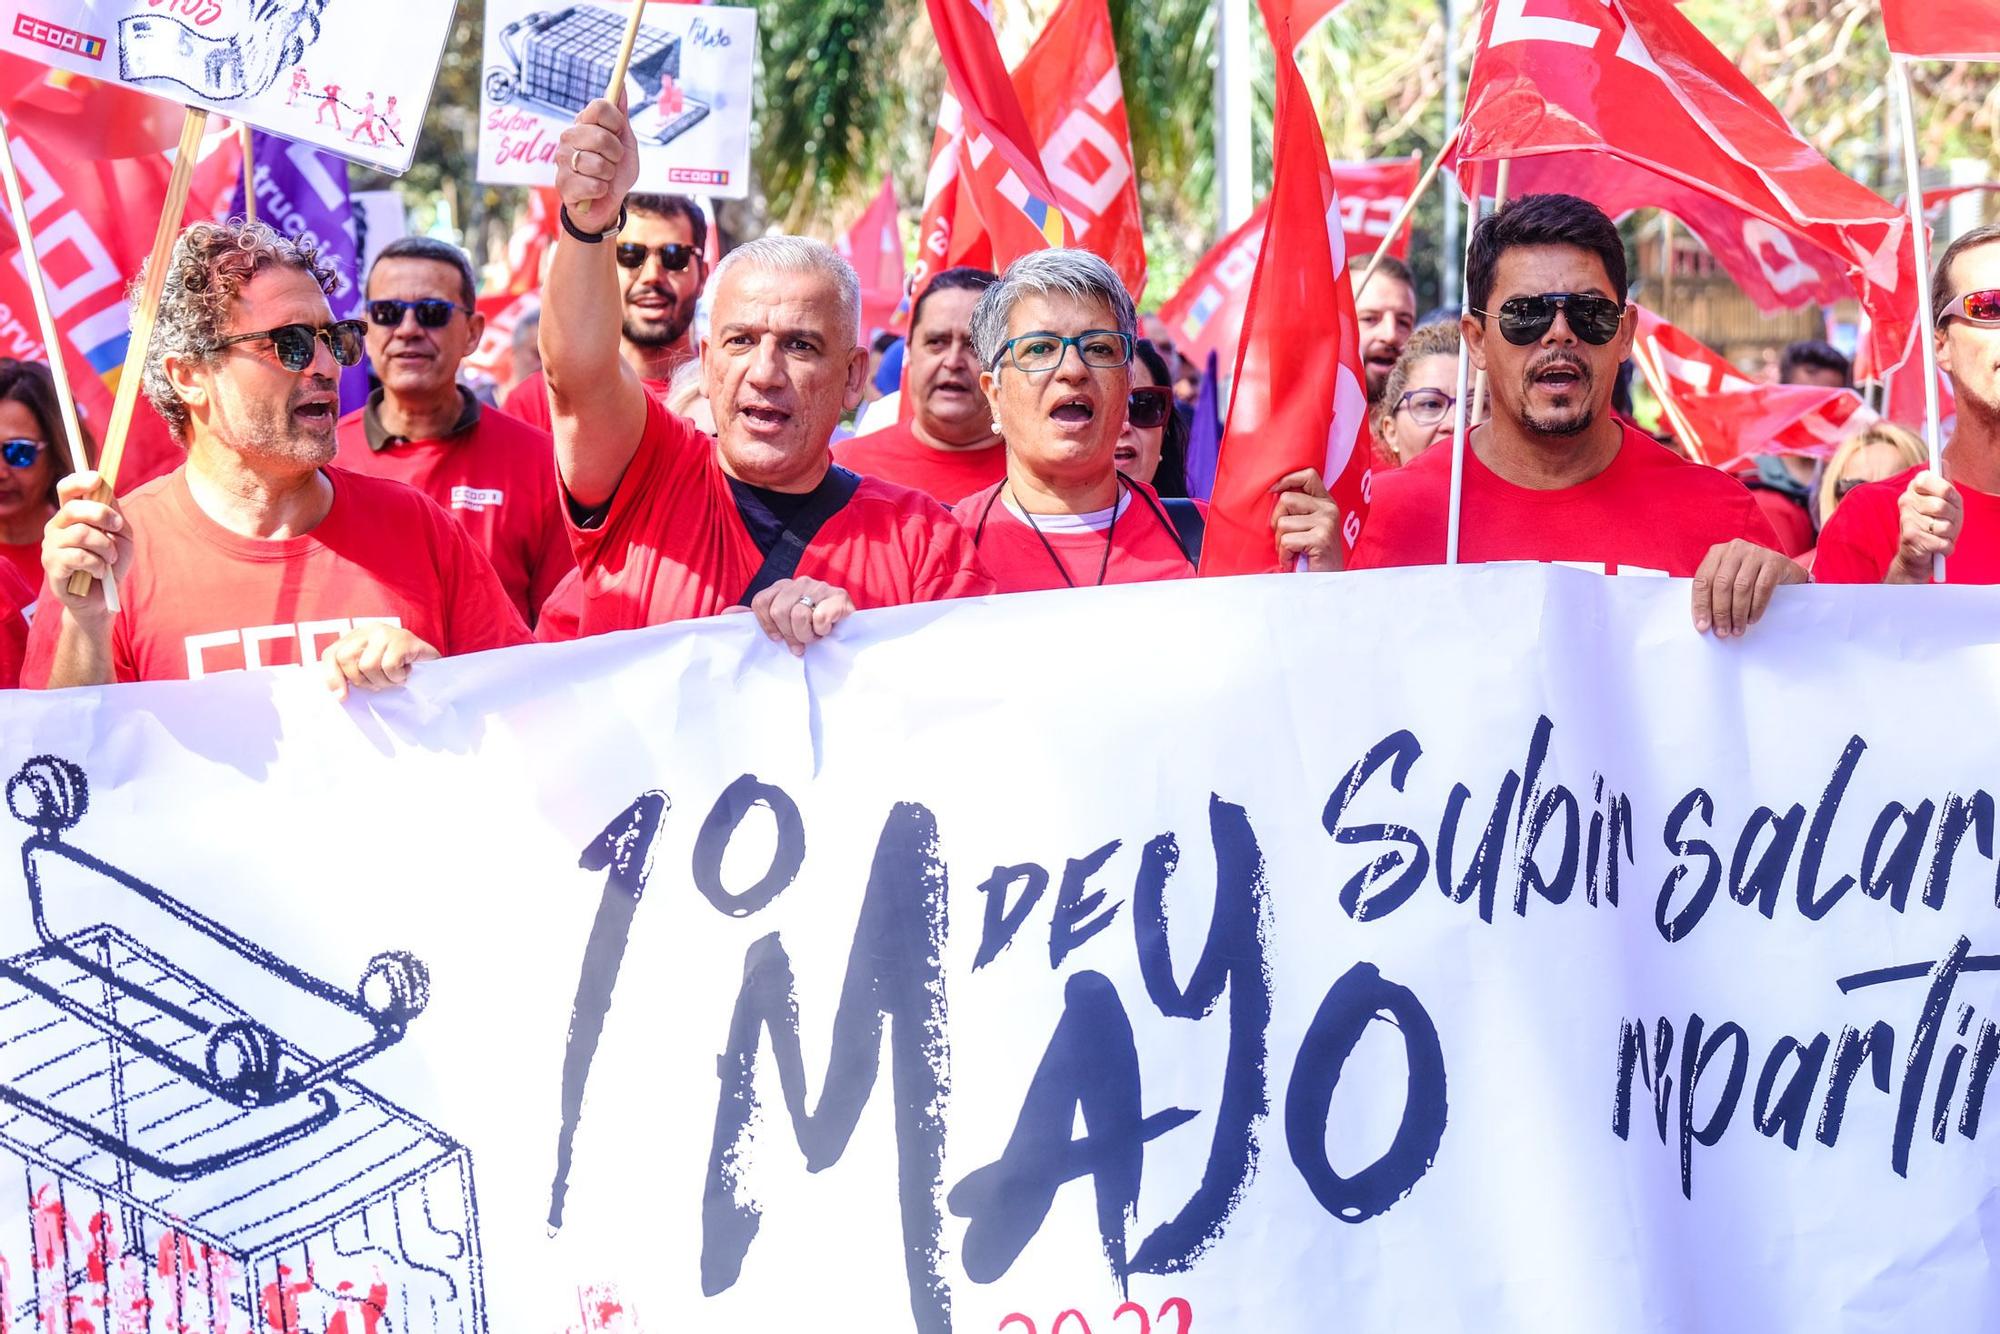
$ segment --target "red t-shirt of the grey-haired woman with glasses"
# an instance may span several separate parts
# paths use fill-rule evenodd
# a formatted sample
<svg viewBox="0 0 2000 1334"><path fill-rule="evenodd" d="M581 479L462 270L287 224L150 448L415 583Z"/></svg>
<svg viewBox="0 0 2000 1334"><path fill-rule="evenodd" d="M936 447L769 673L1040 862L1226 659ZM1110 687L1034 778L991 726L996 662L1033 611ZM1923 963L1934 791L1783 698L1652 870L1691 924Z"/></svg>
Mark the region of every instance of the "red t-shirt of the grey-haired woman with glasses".
<svg viewBox="0 0 2000 1334"><path fill-rule="evenodd" d="M1098 584L1098 570L1106 584L1194 578L1174 524L1144 482L1128 478L1118 488L1116 522L1100 526L1088 526L1084 520L1090 516L1062 514L1036 514L1030 526L1000 496L1004 488L1006 482L994 482L952 506L952 514L980 548L980 562L994 576L998 592L1090 588ZM1048 546L1042 544L1044 538ZM1062 570L1056 568L1058 560ZM1064 570L1068 580L1062 578Z"/></svg>

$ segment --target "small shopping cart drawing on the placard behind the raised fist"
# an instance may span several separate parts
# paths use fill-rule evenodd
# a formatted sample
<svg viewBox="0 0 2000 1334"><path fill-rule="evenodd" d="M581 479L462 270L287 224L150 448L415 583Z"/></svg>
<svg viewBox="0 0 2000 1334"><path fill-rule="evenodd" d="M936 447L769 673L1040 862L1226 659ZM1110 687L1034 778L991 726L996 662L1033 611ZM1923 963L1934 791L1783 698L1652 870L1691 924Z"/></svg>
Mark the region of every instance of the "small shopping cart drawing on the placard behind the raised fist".
<svg viewBox="0 0 2000 1334"><path fill-rule="evenodd" d="M624 16L592 4L536 10L500 30L500 48L514 68L486 70L486 96L496 106L528 102L570 120L602 98L624 42ZM632 136L640 144L672 144L712 110L680 84L680 38L640 24L626 80L644 100L632 100Z"/></svg>

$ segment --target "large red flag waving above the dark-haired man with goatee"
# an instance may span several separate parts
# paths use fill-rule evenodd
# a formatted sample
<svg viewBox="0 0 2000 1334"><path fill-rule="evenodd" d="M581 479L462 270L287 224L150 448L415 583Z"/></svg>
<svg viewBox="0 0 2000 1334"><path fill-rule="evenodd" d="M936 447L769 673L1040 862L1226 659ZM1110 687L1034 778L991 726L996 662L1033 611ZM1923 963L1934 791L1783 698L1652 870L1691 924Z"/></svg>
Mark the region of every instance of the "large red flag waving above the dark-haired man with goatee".
<svg viewBox="0 0 2000 1334"><path fill-rule="evenodd" d="M1868 312L1878 354L1902 350L1916 270L1910 224L1894 204L1800 140L1666 0L1538 0L1536 10L1524 0L1486 6L1458 146L1462 182L1474 162L1512 158L1522 180L1538 156L1608 154L1644 176L1578 170L1560 178L1568 192L1606 212L1680 212L1706 196L1726 212L1688 224L1710 240L1734 228L1738 250L1780 280L1766 288L1790 304L1818 292L1824 270L1808 256L1820 250ZM1746 280L1748 268L1738 260L1730 272Z"/></svg>

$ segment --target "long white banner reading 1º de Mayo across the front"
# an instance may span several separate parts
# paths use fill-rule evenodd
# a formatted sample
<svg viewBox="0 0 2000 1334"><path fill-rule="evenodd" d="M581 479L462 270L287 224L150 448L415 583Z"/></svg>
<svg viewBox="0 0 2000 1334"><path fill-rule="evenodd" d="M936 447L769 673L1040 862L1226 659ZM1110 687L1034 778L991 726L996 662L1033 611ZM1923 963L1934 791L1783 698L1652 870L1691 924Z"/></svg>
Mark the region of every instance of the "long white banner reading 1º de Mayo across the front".
<svg viewBox="0 0 2000 1334"><path fill-rule="evenodd" d="M1996 642L1396 570L0 696L6 1328L2000 1330Z"/></svg>

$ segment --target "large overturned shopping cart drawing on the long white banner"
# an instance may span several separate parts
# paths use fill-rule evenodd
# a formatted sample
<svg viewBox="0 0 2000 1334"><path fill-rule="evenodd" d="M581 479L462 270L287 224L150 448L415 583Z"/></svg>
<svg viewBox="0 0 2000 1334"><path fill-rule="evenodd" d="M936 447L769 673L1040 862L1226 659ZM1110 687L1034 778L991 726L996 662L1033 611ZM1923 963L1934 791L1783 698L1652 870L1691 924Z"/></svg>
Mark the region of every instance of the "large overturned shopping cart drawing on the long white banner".
<svg viewBox="0 0 2000 1334"><path fill-rule="evenodd" d="M234 1330L280 1300L296 1328L480 1334L470 1154L350 1078L424 1012L424 964L340 988L84 852L66 760L6 804L38 942L0 958L0 1330L100 1300L148 1312L120 1330Z"/></svg>

